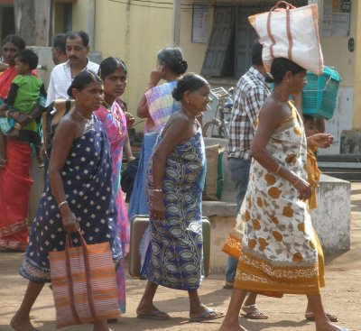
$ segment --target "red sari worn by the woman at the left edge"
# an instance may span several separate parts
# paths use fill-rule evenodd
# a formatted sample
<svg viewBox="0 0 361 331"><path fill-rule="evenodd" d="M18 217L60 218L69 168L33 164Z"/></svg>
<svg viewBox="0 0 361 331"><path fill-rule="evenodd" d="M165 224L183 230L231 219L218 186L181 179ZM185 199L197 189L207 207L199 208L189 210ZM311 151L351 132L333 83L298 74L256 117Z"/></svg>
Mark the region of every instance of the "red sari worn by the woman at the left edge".
<svg viewBox="0 0 361 331"><path fill-rule="evenodd" d="M0 98L5 99L14 67L0 75ZM29 241L26 221L32 187L32 150L29 143L6 139L6 165L0 168L0 251L24 251Z"/></svg>

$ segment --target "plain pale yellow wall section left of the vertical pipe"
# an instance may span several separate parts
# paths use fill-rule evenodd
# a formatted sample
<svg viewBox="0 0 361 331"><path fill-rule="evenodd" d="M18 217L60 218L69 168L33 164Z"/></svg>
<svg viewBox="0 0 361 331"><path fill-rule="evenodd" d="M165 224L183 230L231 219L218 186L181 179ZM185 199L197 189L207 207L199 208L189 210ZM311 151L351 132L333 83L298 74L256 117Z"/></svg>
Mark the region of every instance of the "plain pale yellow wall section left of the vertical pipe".
<svg viewBox="0 0 361 331"><path fill-rule="evenodd" d="M94 5L93 12L89 5ZM92 48L101 51L103 59L114 56L125 60L128 88L123 98L134 115L158 51L171 45L171 5L150 6L148 2L131 1L131 5L126 5L106 0L78 0L73 7L73 30L87 31L86 27L94 20ZM142 131L143 124L137 125L136 130Z"/></svg>

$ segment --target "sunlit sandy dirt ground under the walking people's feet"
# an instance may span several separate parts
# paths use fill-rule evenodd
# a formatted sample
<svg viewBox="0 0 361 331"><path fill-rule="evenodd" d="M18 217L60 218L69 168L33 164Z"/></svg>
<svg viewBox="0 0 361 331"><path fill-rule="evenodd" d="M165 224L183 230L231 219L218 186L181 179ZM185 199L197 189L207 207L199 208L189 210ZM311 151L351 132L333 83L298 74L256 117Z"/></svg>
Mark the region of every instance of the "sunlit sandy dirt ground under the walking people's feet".
<svg viewBox="0 0 361 331"><path fill-rule="evenodd" d="M326 259L326 289L322 297L327 311L338 315L339 326L361 331L361 183L352 183L351 250ZM225 256L226 258L226 256ZM13 330L9 321L23 299L26 280L18 275L22 253L0 253L0 331ZM209 307L226 312L231 290L224 290L223 274L211 274L204 281L199 293ZM160 288L155 297L158 308L170 313L166 321L136 318L135 308L141 299L144 280L127 277L127 312L117 324L111 325L114 331L120 330L218 330L222 319L203 323L190 323L189 302L186 293ZM267 320L247 320L240 317L240 323L249 331L315 330L314 323L304 318L306 298L285 296L282 299L260 297L259 308L269 315ZM51 290L45 287L32 309L32 321L39 331L53 331L55 310ZM64 327L65 331L86 331L91 326Z"/></svg>

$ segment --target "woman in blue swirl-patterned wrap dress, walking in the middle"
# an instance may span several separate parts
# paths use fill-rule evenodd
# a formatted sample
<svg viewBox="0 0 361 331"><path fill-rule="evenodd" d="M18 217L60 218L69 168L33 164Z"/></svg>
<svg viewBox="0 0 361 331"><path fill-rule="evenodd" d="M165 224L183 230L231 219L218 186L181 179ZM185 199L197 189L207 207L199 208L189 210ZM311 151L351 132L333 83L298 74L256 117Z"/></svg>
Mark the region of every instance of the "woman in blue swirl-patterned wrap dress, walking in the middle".
<svg viewBox="0 0 361 331"><path fill-rule="evenodd" d="M181 102L154 146L146 176L150 209L150 243L141 274L148 280L136 313L141 318L170 316L153 306L158 285L187 290L190 319L221 317L203 305L198 289L204 277L202 237L202 188L205 151L196 117L207 109L209 85L195 74L180 79L172 96Z"/></svg>

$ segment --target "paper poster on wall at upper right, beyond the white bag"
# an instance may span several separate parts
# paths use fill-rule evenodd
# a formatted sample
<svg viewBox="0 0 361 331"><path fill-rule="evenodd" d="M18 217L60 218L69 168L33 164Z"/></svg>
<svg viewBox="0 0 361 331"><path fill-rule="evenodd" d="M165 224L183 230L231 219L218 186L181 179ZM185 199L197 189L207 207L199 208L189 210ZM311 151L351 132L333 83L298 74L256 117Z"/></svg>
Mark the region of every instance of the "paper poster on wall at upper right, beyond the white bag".
<svg viewBox="0 0 361 331"><path fill-rule="evenodd" d="M349 35L351 0L324 0L322 35L345 37Z"/></svg>

